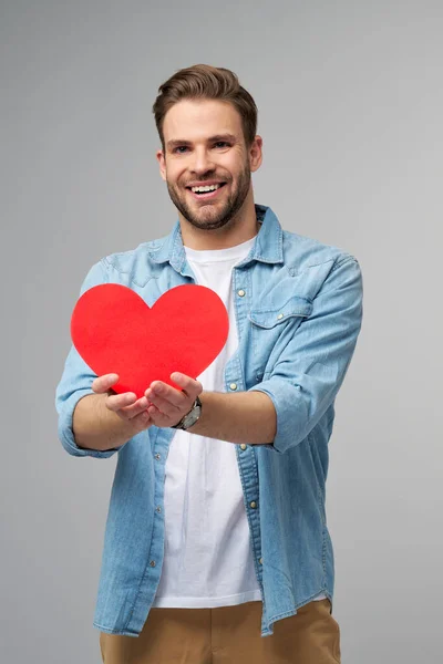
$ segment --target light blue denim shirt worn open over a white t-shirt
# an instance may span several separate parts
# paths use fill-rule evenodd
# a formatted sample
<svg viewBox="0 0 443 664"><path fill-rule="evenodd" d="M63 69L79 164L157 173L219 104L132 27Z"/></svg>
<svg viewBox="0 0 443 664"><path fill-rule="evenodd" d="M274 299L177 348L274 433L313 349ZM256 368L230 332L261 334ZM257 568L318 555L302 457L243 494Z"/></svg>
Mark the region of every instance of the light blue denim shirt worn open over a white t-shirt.
<svg viewBox="0 0 443 664"><path fill-rule="evenodd" d="M261 391L277 413L272 444L236 445L262 595L261 636L267 636L272 623L319 593L332 602L328 440L334 397L360 331L362 283L352 256L284 231L269 207L256 205L256 211L260 230L233 274L239 345L226 366L225 390ZM121 283L152 307L168 289L194 281L177 221L163 239L103 258L81 293L99 283ZM56 388L59 437L73 456L119 455L93 625L137 636L162 573L165 464L175 432L153 426L120 448L79 448L73 411L93 393L95 377L72 347Z"/></svg>

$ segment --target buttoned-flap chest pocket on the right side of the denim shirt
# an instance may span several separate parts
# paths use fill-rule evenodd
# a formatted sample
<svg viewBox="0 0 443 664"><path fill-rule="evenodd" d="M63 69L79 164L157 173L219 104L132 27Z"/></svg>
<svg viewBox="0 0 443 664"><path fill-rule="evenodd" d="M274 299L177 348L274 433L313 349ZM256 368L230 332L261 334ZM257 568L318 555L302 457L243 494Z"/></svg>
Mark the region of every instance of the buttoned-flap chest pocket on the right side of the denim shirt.
<svg viewBox="0 0 443 664"><path fill-rule="evenodd" d="M271 308L249 312L254 373L261 380L272 371L275 361L293 336L300 323L312 312L312 302L293 295Z"/></svg>

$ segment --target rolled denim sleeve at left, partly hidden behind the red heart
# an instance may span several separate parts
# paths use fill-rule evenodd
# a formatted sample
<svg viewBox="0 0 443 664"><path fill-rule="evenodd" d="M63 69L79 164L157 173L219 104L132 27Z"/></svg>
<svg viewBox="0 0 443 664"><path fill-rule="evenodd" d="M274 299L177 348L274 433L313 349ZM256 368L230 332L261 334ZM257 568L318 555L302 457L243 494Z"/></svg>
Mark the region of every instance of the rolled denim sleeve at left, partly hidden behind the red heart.
<svg viewBox="0 0 443 664"><path fill-rule="evenodd" d="M106 283L107 271L103 260L95 263L81 287L81 297L86 290L93 286ZM107 458L119 452L123 446L106 449L84 449L75 443L74 433L72 430L72 417L76 404L81 398L89 394L94 394L91 384L96 378L96 374L87 366L75 350L71 345L68 359L64 364L64 371L61 381L55 391L55 408L59 414L59 439L64 449L73 456L92 456L96 458Z"/></svg>

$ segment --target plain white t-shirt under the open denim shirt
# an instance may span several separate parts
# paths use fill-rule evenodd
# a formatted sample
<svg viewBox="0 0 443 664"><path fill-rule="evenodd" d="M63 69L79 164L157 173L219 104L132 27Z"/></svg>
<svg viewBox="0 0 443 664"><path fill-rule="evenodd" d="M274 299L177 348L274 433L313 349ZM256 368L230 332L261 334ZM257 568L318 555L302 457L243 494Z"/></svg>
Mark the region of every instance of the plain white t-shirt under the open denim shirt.
<svg viewBox="0 0 443 664"><path fill-rule="evenodd" d="M205 391L225 392L225 366L238 345L233 268L254 242L213 251L185 247L197 283L219 295L230 322L223 351L197 377ZM164 507L164 562L153 606L206 609L261 600L233 443L176 430Z"/></svg>

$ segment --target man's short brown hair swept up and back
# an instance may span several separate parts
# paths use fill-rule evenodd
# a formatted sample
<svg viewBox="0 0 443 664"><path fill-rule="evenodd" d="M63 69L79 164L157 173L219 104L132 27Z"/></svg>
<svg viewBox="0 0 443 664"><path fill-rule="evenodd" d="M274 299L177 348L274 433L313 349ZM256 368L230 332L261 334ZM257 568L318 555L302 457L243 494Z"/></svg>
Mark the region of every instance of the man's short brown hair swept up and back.
<svg viewBox="0 0 443 664"><path fill-rule="evenodd" d="M253 144L257 134L257 106L249 92L239 84L238 76L230 70L209 64L194 64L173 74L158 87L158 93L153 113L163 152L165 115L182 100L207 98L229 102L240 114L247 147Z"/></svg>

